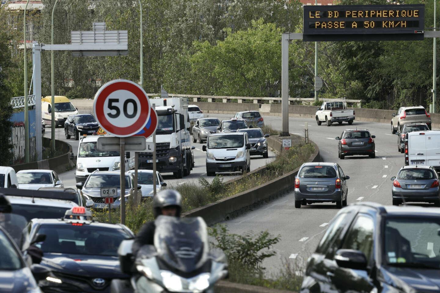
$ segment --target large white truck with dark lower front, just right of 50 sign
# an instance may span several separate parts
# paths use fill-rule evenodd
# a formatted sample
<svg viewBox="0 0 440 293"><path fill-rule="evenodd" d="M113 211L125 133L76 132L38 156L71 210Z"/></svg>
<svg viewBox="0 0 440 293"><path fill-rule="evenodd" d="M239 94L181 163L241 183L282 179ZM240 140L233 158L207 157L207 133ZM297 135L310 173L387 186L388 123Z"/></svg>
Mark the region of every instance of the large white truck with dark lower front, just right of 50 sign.
<svg viewBox="0 0 440 293"><path fill-rule="evenodd" d="M191 173L194 155L190 141L188 98L150 99L156 105L158 128L156 129L156 169L161 173L172 172L182 178ZM153 142L153 137L147 138ZM139 169L153 169L153 154L139 153Z"/></svg>

